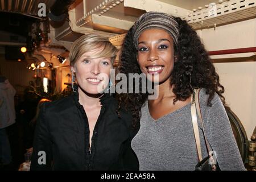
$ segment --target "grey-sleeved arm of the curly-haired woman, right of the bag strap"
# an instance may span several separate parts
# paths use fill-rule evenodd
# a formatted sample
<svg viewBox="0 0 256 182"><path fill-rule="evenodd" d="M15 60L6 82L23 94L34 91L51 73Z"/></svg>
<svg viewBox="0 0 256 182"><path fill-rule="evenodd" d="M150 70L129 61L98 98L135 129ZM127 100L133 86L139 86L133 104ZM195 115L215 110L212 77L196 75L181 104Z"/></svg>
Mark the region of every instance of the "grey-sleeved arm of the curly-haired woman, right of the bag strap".
<svg viewBox="0 0 256 182"><path fill-rule="evenodd" d="M217 94L209 109L207 126L209 143L216 152L221 170L245 170L225 108Z"/></svg>

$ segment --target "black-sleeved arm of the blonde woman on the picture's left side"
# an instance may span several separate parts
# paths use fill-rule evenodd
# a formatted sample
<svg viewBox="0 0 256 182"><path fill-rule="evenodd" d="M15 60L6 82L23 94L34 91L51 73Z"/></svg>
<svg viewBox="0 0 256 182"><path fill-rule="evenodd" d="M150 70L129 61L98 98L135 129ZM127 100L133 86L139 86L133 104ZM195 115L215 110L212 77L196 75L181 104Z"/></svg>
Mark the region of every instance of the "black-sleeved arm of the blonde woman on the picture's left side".
<svg viewBox="0 0 256 182"><path fill-rule="evenodd" d="M35 138L30 170L51 170L52 144L46 120L46 104L42 105L36 120Z"/></svg>

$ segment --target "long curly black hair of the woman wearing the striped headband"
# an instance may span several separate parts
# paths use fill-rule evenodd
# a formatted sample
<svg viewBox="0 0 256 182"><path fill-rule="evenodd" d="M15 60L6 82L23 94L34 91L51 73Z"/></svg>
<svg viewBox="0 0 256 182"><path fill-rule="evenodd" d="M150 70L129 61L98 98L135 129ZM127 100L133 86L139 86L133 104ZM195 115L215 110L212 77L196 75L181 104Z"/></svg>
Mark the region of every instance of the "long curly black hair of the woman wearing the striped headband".
<svg viewBox="0 0 256 182"><path fill-rule="evenodd" d="M224 86L220 84L220 78L199 36L187 21L180 18L175 19L179 24L180 35L177 45L174 46L176 61L170 76L173 92L176 96L174 104L178 100L187 100L193 93L193 89L205 88L206 94L209 94L208 106L212 106L211 101L214 92L220 96L222 103L226 106L225 98L222 96ZM129 73L142 73L137 62L138 50L133 45L132 28L126 34L122 45L121 61L118 65L118 72L124 73L127 77ZM118 109L121 105L129 109L133 115L133 125L135 125L141 118L141 107L147 97L148 93L121 93L117 97Z"/></svg>

